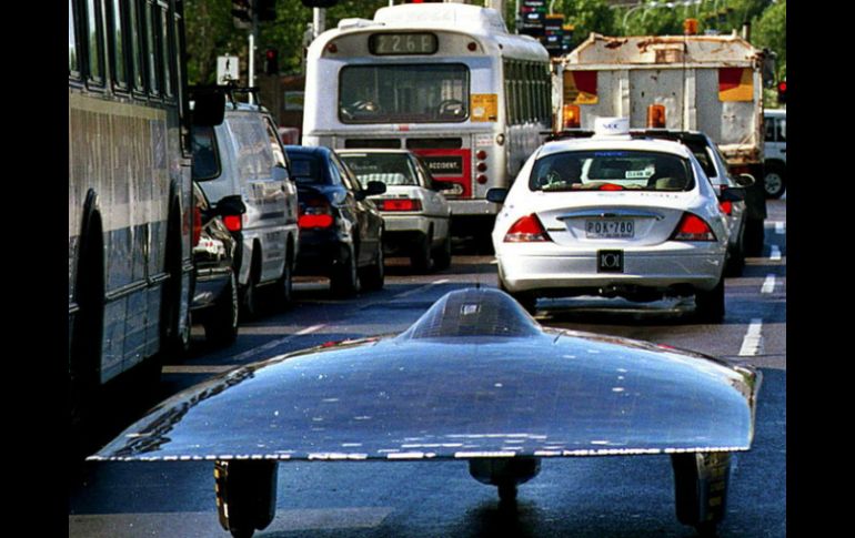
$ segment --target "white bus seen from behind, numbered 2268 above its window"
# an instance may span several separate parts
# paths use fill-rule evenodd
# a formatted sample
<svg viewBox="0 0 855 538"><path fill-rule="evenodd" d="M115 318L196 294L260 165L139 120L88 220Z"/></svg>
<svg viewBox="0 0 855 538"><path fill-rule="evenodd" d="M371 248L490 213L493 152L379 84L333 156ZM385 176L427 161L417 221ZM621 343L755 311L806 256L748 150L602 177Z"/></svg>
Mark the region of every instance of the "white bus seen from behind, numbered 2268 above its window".
<svg viewBox="0 0 855 538"><path fill-rule="evenodd" d="M342 20L306 55L303 144L411 150L455 184L455 233L487 242L499 206L486 192L510 185L551 110L546 49L489 8L381 8Z"/></svg>

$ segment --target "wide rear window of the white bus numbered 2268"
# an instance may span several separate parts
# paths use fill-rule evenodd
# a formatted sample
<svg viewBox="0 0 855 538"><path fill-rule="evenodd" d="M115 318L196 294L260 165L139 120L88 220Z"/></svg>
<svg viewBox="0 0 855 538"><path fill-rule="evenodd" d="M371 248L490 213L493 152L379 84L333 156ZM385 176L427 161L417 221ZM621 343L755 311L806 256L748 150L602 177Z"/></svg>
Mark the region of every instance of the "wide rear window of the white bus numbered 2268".
<svg viewBox="0 0 855 538"><path fill-rule="evenodd" d="M349 65L341 70L342 123L441 123L469 118L464 64Z"/></svg>

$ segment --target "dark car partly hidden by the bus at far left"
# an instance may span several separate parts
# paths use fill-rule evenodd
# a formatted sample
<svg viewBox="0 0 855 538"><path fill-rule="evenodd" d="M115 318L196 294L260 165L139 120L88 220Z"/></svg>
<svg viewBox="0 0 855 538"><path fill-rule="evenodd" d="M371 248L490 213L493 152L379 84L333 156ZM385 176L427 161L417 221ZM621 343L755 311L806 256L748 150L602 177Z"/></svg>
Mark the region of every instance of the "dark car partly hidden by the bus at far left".
<svg viewBox="0 0 855 538"><path fill-rule="evenodd" d="M208 342L225 346L238 337L240 303L234 272L238 243L223 220L240 219L247 206L240 196L227 196L211 207L195 182L193 193L195 287L190 309L194 322L204 326Z"/></svg>

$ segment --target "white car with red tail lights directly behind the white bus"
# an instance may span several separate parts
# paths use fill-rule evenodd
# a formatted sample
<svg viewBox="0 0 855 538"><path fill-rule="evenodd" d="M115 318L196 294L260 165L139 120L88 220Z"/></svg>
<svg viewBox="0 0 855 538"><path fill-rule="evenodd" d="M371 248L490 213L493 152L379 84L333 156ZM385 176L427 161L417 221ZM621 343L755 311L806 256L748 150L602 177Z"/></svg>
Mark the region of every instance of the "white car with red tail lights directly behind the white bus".
<svg viewBox="0 0 855 538"><path fill-rule="evenodd" d="M336 150L362 183L380 181L386 192L370 196L383 216L386 251L410 256L419 272L451 265L451 209L418 156L405 150Z"/></svg>

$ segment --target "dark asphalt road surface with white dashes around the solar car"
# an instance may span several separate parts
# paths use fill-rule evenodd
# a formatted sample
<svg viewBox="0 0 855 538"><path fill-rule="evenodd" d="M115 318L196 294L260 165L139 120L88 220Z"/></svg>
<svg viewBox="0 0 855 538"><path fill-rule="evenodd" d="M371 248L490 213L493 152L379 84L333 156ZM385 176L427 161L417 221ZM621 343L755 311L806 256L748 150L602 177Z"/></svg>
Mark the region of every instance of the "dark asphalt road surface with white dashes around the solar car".
<svg viewBox="0 0 855 538"><path fill-rule="evenodd" d="M737 455L722 537L786 536L786 201L770 201L766 247L726 282L726 316L700 325L687 302L542 301L544 325L620 335L754 364L763 385L751 451ZM455 253L456 254L456 253ZM207 347L164 366L143 403L108 405L92 445L109 440L144 406L232 366L331 341L396 333L460 287L496 286L492 256L455 255L446 271L411 275L390 260L386 286L342 301L323 281L295 285L296 304L241 327L235 345ZM122 392L122 389L118 389ZM128 394L122 394L128 397ZM666 419L666 418L664 418ZM97 446L94 448L98 448ZM210 463L86 464L69 480L69 538L217 537ZM688 537L676 521L666 456L550 459L520 487L515 510L465 461L283 463L276 518L255 536L292 537Z"/></svg>

